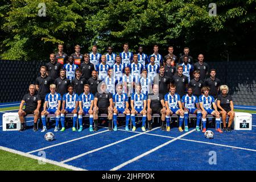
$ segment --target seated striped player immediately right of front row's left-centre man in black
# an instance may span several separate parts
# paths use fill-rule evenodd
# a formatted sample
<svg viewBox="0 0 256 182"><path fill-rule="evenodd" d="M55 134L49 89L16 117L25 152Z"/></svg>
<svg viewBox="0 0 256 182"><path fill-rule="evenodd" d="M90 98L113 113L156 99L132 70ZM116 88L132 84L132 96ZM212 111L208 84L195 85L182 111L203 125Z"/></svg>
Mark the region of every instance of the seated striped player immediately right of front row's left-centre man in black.
<svg viewBox="0 0 256 182"><path fill-rule="evenodd" d="M114 114L113 114L113 121L114 121L114 131L117 131L117 114L126 114L126 123L125 123L125 130L129 131L128 125L130 121L130 110L128 96L126 93L122 93L123 85L117 85L117 94L113 96L113 104L114 104Z"/></svg>

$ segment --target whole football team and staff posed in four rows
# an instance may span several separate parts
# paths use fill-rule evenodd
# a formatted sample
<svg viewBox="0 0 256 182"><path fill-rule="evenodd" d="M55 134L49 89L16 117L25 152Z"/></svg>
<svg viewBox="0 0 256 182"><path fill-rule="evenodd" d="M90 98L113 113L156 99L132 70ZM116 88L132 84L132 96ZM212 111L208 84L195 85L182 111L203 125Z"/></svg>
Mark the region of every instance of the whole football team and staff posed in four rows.
<svg viewBox="0 0 256 182"><path fill-rule="evenodd" d="M57 48L22 98L19 131L26 130L27 114L34 114L33 131L38 131L39 119L42 121L41 132L47 131L48 114L56 115L55 132L59 123L60 131L65 131L66 114L72 114L72 131L79 132L84 129L84 115L89 117L89 131L97 131L101 114L108 115L109 131L118 130L118 114L124 114L126 131L137 129L137 114L142 117L142 131L146 131L146 124L147 130L152 130L153 114L159 114L163 131L171 130L173 114L178 117L180 132L188 131L189 114L196 114L196 131L205 133L208 114L216 120L216 131L232 131L234 106L228 86L221 85L216 70L204 62L204 55L194 60L188 47L179 57L174 55L174 47L168 47L166 56L158 53L158 46L152 47L152 55L146 55L142 46L137 53L130 52L127 43L119 54L111 46L102 55L97 46L91 53L81 54L76 45L75 53L69 56L62 44Z"/></svg>

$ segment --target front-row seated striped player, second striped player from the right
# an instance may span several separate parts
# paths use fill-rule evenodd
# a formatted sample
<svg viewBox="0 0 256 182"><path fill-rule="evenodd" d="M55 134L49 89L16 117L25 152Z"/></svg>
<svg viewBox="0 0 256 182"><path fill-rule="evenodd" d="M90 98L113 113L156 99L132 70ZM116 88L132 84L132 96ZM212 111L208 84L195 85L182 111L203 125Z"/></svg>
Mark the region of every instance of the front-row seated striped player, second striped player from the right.
<svg viewBox="0 0 256 182"><path fill-rule="evenodd" d="M188 131L188 115L197 114L196 119L196 131L200 131L199 124L202 118L202 112L199 106L199 102L196 96L192 94L192 87L188 87L188 94L184 95L181 98L181 103L184 108L184 117L185 117L185 131Z"/></svg>

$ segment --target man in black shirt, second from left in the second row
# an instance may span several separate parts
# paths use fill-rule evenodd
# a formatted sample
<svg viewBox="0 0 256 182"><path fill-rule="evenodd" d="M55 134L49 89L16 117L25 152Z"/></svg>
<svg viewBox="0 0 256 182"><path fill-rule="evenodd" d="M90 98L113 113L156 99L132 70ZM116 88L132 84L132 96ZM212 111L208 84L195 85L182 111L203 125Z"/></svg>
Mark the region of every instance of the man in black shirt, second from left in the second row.
<svg viewBox="0 0 256 182"><path fill-rule="evenodd" d="M57 89L56 92L61 95L61 97L68 93L68 85L71 84L71 81L66 77L66 71L64 69L60 70L60 77L56 78L54 81Z"/></svg>

